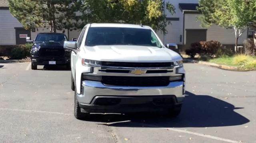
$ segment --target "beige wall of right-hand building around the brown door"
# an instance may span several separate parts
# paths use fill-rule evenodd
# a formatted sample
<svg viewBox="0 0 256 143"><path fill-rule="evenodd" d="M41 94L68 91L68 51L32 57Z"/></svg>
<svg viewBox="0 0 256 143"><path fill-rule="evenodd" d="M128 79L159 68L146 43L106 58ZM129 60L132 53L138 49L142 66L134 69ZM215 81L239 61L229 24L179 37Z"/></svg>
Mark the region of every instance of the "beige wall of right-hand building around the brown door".
<svg viewBox="0 0 256 143"><path fill-rule="evenodd" d="M200 26L197 16L200 14L185 14L184 16L184 44L186 44L186 29L205 29ZM238 40L238 44L242 44L247 37L247 30L244 31ZM206 40L216 40L222 44L234 44L235 34L233 29L226 29L217 25L212 25L207 29Z"/></svg>

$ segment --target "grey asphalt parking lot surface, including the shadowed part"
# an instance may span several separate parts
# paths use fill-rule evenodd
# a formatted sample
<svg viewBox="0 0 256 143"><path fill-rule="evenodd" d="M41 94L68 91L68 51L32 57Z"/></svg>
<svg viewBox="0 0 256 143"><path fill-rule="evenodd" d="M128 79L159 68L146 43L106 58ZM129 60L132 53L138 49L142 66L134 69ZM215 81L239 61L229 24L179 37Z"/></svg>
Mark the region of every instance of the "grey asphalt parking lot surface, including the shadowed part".
<svg viewBox="0 0 256 143"><path fill-rule="evenodd" d="M0 142L255 143L256 71L184 64L178 118L95 114L75 119L70 71L0 64Z"/></svg>

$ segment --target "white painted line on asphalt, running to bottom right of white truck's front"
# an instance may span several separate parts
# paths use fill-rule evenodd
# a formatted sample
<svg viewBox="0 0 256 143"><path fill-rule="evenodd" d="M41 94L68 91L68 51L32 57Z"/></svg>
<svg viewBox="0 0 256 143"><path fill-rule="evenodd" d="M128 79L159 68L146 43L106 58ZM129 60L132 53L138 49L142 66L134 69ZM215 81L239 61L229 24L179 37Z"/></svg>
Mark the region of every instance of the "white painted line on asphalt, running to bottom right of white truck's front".
<svg viewBox="0 0 256 143"><path fill-rule="evenodd" d="M206 135L206 134L196 133L196 132L192 132L192 131L186 131L186 130L182 130L182 129L159 127L159 126L156 126L156 125L149 125L149 124L143 124L143 125L148 125L149 127L150 126L151 127L158 127L158 128L161 128L161 129L168 129L170 131L176 131L176 132L180 132L180 133L188 133L188 134L191 134L191 135L197 135L197 136L200 136L200 137L206 137L206 138L215 139L215 140L218 140L218 141L226 141L226 142L229 142L229 143L241 143L241 141L234 141L234 140L230 140L230 139L224 139L224 138L221 138L221 137L215 137L215 136L212 136L212 135Z"/></svg>

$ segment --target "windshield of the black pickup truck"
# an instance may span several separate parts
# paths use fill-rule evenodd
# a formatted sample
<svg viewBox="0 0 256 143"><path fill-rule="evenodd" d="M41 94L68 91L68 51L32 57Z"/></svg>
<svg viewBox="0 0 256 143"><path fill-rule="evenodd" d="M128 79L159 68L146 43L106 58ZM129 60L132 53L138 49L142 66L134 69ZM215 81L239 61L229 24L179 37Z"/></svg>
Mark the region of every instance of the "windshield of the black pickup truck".
<svg viewBox="0 0 256 143"><path fill-rule="evenodd" d="M56 41L56 42L62 42L66 40L66 36L64 34L38 34L36 37L36 42L39 41Z"/></svg>

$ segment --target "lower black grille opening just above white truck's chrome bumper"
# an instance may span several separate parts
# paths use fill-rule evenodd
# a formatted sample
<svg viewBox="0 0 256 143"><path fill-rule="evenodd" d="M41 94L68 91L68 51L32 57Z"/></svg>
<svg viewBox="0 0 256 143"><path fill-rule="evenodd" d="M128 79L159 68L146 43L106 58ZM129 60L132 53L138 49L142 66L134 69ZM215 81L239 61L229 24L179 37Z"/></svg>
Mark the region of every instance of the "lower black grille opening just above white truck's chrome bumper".
<svg viewBox="0 0 256 143"><path fill-rule="evenodd" d="M102 83L113 86L167 86L169 76L102 76Z"/></svg>

